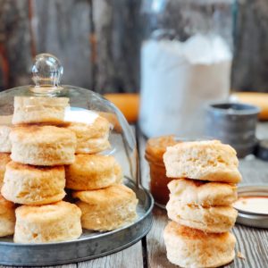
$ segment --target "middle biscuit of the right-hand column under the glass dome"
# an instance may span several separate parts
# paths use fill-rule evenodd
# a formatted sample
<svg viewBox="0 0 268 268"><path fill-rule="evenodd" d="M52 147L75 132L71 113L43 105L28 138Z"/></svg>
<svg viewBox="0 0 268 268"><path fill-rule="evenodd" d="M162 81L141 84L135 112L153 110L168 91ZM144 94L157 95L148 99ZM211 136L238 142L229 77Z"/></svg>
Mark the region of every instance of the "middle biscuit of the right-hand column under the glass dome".
<svg viewBox="0 0 268 268"><path fill-rule="evenodd" d="M110 155L75 155L65 173L66 187L75 190L106 188L122 179L121 167Z"/></svg>

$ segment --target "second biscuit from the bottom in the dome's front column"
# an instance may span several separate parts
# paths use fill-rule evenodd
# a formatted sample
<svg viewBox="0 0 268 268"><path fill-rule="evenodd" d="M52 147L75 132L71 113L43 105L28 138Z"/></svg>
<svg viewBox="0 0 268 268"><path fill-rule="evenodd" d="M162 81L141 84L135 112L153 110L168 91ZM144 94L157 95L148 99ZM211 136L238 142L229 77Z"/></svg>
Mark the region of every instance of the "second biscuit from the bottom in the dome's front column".
<svg viewBox="0 0 268 268"><path fill-rule="evenodd" d="M24 205L46 205L65 196L64 167L44 167L10 162L6 165L3 197Z"/></svg>

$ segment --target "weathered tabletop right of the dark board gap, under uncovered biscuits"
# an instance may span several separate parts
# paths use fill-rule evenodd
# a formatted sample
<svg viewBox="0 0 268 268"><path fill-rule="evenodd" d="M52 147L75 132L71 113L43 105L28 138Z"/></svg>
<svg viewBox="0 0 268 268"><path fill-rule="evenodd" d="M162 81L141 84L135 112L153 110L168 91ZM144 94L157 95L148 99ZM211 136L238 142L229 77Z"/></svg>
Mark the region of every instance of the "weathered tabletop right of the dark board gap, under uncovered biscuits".
<svg viewBox="0 0 268 268"><path fill-rule="evenodd" d="M259 124L257 136L268 138L268 123ZM149 167L144 158L146 138L141 134L138 135L138 144L142 183L148 188ZM239 170L243 175L243 184L268 184L267 162L256 159L253 156L248 156L239 161ZM148 267L178 267L170 264L166 258L163 244L163 228L168 222L166 212L155 206L153 214L155 221L152 230L147 235ZM234 262L224 267L266 267L268 264L268 230L236 224L233 228L233 233L238 240L236 252L241 252L245 259L236 257Z"/></svg>

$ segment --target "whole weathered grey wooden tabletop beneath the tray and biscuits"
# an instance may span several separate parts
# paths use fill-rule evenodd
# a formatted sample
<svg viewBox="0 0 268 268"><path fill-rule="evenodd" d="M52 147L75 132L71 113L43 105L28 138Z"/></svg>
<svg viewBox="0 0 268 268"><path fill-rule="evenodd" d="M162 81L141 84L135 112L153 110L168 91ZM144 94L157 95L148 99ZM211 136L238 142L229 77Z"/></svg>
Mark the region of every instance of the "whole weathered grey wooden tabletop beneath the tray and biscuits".
<svg viewBox="0 0 268 268"><path fill-rule="evenodd" d="M146 138L138 134L138 152L141 167L142 184L148 188L149 170L144 159ZM260 123L257 128L258 138L268 138L268 122ZM244 184L268 184L268 163L249 155L239 161L239 170L243 175ZM113 255L108 255L88 262L78 264L58 265L60 268L172 268L178 267L170 264L166 258L163 244L163 228L168 222L165 210L155 206L153 210L154 223L147 237L134 246L124 249ZM249 228L236 224L233 228L238 243L236 252L245 258L236 256L234 262L224 267L268 267L268 230ZM8 266L0 266L8 267Z"/></svg>

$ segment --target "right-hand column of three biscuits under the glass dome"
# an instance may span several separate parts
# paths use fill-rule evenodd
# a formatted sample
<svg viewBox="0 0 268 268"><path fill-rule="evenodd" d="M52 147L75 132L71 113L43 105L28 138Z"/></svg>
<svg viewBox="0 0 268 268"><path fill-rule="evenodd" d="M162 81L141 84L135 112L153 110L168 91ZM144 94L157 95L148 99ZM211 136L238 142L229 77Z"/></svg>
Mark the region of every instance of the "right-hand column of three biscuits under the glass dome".
<svg viewBox="0 0 268 268"><path fill-rule="evenodd" d="M110 147L109 121L96 113L83 112L90 123L73 122L73 113L67 129L77 137L74 163L65 167L66 188L82 212L81 223L88 230L115 230L133 222L136 217L138 199L135 193L121 184L121 166L112 155L96 155ZM94 115L95 114L95 115ZM81 115L81 114L80 114ZM76 116L77 117L77 116ZM83 116L82 116L83 117ZM92 122L92 118L94 122Z"/></svg>

